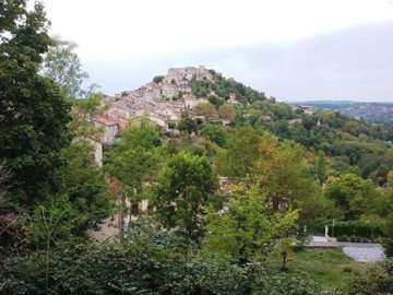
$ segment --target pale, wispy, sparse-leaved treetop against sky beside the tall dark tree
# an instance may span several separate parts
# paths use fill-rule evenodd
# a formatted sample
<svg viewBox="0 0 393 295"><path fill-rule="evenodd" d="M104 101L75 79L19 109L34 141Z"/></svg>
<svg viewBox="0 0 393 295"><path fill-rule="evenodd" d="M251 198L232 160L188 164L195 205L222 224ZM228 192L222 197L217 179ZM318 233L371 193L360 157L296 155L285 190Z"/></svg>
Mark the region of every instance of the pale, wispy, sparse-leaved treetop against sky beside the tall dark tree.
<svg viewBox="0 0 393 295"><path fill-rule="evenodd" d="M41 66L44 75L58 83L66 97L85 96L86 92L82 90L82 83L88 74L82 70L82 63L74 52L78 45L59 37L53 40L55 45L49 48Z"/></svg>

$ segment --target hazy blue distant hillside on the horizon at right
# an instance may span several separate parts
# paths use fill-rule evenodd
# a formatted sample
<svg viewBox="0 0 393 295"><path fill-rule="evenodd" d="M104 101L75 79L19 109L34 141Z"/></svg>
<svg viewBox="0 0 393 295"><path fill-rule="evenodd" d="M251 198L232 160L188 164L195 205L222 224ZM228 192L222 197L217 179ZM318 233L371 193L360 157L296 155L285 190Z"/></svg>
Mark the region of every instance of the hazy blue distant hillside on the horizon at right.
<svg viewBox="0 0 393 295"><path fill-rule="evenodd" d="M361 103L352 101L308 101L289 103L290 105L307 105L314 109L332 109L357 119L371 122L391 122L393 120L393 103Z"/></svg>

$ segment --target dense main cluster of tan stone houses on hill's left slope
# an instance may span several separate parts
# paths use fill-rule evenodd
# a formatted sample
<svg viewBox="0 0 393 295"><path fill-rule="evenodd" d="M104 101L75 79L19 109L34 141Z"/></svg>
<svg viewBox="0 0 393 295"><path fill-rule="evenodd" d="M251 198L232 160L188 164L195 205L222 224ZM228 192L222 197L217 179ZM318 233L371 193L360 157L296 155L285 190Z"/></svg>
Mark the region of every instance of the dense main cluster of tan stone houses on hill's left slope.
<svg viewBox="0 0 393 295"><path fill-rule="evenodd" d="M196 105L209 103L206 97L192 95L190 83L211 81L218 76L222 74L203 66L171 68L166 75L155 76L152 82L138 90L124 91L114 97L106 97L103 103L107 105L107 110L94 119L97 126L105 128L102 142L112 143L130 119L142 116L148 117L163 131L168 131L169 122L179 122L182 111L191 111ZM212 92L210 95L215 95L215 93ZM230 95L227 103L240 104L235 94ZM203 116L195 115L192 118L205 120ZM227 122L224 120L224 123Z"/></svg>

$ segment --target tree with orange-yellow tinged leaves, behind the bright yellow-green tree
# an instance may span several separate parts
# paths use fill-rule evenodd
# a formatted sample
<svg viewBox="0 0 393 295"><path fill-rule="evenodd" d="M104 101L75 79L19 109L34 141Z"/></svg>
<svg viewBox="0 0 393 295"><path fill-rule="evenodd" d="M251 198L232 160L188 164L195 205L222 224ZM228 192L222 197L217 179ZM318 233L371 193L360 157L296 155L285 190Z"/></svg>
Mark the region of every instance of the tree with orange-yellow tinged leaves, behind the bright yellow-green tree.
<svg viewBox="0 0 393 295"><path fill-rule="evenodd" d="M299 222L309 225L319 214L331 214L332 205L320 198L299 144L264 133L253 179L266 197L271 213L300 210ZM314 208L321 210L315 212Z"/></svg>

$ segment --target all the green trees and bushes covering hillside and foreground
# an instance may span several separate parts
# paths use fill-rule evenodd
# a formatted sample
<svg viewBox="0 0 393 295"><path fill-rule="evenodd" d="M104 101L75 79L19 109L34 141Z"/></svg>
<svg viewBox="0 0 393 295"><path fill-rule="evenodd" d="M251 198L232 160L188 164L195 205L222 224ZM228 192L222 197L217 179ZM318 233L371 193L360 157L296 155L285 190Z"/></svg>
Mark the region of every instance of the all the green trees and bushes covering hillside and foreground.
<svg viewBox="0 0 393 295"><path fill-rule="evenodd" d="M131 120L99 166L105 95L49 24L39 2L0 0L0 294L392 294L393 126L216 76L192 81L210 103L178 133ZM93 241L142 200L119 237ZM333 220L338 240L388 259L326 287L290 261Z"/></svg>

